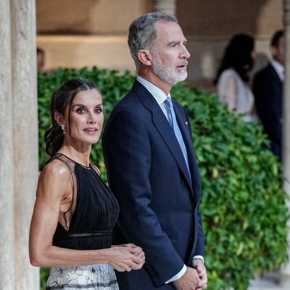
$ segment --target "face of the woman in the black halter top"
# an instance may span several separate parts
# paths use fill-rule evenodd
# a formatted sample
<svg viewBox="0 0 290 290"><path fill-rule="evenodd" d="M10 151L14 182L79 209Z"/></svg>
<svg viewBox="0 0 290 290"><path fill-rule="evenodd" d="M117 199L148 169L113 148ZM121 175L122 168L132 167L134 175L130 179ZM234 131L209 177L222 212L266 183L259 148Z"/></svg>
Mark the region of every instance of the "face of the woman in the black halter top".
<svg viewBox="0 0 290 290"><path fill-rule="evenodd" d="M66 113L64 123L64 138L67 141L96 143L103 125L101 94L96 89L78 92L71 103L70 134L68 130L68 113Z"/></svg>

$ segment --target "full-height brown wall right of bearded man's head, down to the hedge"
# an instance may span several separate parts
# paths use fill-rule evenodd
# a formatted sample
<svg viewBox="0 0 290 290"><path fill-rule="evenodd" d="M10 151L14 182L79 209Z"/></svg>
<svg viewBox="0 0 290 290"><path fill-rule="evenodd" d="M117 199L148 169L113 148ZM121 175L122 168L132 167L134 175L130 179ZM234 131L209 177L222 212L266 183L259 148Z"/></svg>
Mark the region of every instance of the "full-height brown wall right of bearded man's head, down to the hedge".
<svg viewBox="0 0 290 290"><path fill-rule="evenodd" d="M269 55L272 33L283 27L282 0L192 0L177 1L176 16L188 38L188 78L210 90L227 41L235 33L255 38L257 58L254 70Z"/></svg>

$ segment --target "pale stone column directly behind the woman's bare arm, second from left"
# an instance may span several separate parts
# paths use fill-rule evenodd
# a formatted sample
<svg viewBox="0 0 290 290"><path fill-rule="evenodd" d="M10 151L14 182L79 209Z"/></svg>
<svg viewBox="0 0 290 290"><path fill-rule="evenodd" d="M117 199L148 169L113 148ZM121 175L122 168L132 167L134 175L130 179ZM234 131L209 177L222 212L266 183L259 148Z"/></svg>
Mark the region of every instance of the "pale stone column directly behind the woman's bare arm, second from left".
<svg viewBox="0 0 290 290"><path fill-rule="evenodd" d="M14 160L15 290L39 289L28 258L38 177L35 0L10 0Z"/></svg>

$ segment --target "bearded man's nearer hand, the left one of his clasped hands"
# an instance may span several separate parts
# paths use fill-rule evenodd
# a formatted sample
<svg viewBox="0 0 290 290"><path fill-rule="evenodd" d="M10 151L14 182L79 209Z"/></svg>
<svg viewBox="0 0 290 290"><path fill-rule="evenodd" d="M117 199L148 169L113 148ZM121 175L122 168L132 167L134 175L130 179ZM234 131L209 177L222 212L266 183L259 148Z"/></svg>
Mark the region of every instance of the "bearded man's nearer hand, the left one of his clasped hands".
<svg viewBox="0 0 290 290"><path fill-rule="evenodd" d="M186 272L172 283L177 290L196 290L202 286L197 270L190 267L186 267Z"/></svg>

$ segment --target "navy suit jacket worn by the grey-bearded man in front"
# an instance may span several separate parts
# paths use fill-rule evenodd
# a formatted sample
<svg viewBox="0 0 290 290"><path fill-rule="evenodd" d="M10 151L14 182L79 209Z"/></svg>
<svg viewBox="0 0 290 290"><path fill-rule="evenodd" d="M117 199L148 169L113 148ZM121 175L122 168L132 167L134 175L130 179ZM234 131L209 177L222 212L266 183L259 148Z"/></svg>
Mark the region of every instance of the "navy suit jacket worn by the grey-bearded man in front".
<svg viewBox="0 0 290 290"><path fill-rule="evenodd" d="M173 289L164 281L184 263L191 266L193 255L204 255L200 176L190 123L184 108L172 102L192 182L169 122L138 81L116 104L104 128L108 183L120 205L114 244L139 245L146 258L140 270L116 271L120 290Z"/></svg>

